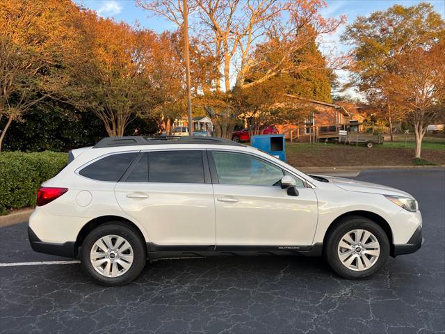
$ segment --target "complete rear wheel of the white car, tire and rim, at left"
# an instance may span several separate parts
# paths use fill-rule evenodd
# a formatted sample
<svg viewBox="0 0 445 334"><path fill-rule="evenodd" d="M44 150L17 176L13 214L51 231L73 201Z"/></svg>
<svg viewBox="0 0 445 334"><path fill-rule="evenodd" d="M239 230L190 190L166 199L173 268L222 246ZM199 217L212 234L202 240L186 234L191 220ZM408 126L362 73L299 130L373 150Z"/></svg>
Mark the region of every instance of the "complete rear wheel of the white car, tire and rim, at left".
<svg viewBox="0 0 445 334"><path fill-rule="evenodd" d="M83 241L86 273L100 285L124 285L139 276L146 262L145 244L133 228L120 222L100 225Z"/></svg>

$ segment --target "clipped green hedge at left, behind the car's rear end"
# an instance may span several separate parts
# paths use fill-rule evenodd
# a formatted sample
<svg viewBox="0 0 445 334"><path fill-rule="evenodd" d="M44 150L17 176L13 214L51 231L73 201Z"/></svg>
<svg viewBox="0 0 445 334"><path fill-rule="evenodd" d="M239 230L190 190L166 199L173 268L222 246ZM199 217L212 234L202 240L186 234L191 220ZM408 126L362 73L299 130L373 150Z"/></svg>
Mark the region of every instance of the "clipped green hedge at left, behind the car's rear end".
<svg viewBox="0 0 445 334"><path fill-rule="evenodd" d="M0 152L0 214L35 205L40 184L54 177L67 158L51 151Z"/></svg>

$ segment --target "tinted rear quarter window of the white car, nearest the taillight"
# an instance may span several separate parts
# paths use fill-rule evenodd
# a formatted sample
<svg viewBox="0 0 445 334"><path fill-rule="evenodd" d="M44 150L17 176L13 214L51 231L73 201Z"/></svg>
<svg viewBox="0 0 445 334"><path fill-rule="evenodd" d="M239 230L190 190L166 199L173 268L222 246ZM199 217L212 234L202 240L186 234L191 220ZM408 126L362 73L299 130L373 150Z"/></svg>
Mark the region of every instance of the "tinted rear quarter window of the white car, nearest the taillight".
<svg viewBox="0 0 445 334"><path fill-rule="evenodd" d="M108 155L82 168L79 174L92 180L118 182L138 154L139 152Z"/></svg>

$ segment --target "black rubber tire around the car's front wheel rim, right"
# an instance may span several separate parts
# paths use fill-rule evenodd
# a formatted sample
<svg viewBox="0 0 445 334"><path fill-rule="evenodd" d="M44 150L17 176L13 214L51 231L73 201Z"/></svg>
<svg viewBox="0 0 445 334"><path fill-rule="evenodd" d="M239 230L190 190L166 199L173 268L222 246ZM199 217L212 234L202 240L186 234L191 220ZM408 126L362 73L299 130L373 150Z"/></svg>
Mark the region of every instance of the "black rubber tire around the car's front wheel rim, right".
<svg viewBox="0 0 445 334"><path fill-rule="evenodd" d="M371 232L380 244L380 255L375 263L362 271L355 271L347 268L340 260L338 247L341 238L350 231L361 229ZM389 257L389 240L385 231L380 226L371 221L371 219L361 216L351 216L343 219L329 235L327 235L326 246L323 249L323 255L325 260L330 265L333 271L339 276L348 279L362 279L373 276L380 271L388 260ZM362 262L363 263L363 262Z"/></svg>

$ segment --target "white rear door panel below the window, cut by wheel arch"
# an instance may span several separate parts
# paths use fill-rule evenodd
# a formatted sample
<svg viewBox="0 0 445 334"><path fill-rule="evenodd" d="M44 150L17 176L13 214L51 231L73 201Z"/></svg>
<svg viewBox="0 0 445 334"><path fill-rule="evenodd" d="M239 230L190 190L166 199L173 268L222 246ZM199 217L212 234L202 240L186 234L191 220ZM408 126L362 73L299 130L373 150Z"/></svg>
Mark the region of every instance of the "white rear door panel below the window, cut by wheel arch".
<svg viewBox="0 0 445 334"><path fill-rule="evenodd" d="M128 198L145 194L148 198ZM115 196L158 245L214 245L215 208L211 184L119 182Z"/></svg>

